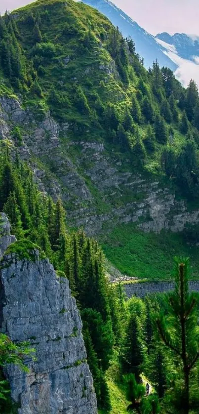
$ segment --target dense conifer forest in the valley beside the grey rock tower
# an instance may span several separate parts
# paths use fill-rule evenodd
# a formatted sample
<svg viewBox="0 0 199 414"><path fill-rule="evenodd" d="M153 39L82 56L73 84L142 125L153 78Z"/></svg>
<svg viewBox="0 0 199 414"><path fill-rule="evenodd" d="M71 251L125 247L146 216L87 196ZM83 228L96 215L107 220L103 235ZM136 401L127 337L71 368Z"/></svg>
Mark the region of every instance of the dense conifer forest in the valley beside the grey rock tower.
<svg viewBox="0 0 199 414"><path fill-rule="evenodd" d="M56 271L69 279L83 321L87 360L102 413L112 410L107 372L126 393L126 410L197 413L198 296L189 293L188 260L176 259L173 293L126 301L121 283L108 283L97 242L83 230L68 231L61 200L54 204L40 193L33 173L20 162L17 152L11 161L6 143L0 157L0 208L19 240L8 252L17 248L23 255L28 243L29 249L41 249ZM3 334L0 344L1 368L14 362L23 369L23 355L34 352L28 344L10 343ZM150 383L148 397L144 378ZM3 378L0 406L4 413L14 413Z"/></svg>

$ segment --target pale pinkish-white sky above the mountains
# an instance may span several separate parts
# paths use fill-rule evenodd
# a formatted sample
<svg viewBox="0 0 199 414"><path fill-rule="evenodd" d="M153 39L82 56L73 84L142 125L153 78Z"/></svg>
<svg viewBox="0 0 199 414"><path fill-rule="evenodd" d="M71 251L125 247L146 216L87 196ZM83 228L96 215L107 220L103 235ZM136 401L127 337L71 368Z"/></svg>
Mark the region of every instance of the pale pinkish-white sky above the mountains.
<svg viewBox="0 0 199 414"><path fill-rule="evenodd" d="M31 0L0 0L0 13ZM199 35L199 0L114 0L140 26L153 35L175 32Z"/></svg>

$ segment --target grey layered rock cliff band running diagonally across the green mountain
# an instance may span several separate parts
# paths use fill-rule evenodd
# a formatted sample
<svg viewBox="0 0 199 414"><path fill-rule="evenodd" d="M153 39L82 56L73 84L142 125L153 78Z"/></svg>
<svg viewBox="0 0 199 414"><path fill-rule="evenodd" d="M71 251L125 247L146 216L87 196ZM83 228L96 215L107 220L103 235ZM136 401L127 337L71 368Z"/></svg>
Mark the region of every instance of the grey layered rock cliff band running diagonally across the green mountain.
<svg viewBox="0 0 199 414"><path fill-rule="evenodd" d="M38 121L17 99L1 97L1 139L16 146L12 130L21 124L20 156L30 163L42 191L62 197L69 225L96 236L121 223L159 233L179 232L199 221L198 209L189 211L174 191L132 171L128 159L108 151L89 130L85 140L71 141L69 124L56 123L49 113Z"/></svg>

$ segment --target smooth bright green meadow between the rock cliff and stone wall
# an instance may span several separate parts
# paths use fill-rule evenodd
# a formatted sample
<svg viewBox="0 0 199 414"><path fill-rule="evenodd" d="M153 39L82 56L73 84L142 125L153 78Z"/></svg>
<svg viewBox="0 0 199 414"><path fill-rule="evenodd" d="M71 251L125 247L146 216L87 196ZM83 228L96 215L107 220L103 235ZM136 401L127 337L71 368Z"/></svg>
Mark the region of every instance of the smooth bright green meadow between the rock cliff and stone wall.
<svg viewBox="0 0 199 414"><path fill-rule="evenodd" d="M182 234L144 233L133 224L115 228L102 243L108 258L121 273L140 279L169 279L173 257L190 257L191 273L199 276L199 248L186 245Z"/></svg>

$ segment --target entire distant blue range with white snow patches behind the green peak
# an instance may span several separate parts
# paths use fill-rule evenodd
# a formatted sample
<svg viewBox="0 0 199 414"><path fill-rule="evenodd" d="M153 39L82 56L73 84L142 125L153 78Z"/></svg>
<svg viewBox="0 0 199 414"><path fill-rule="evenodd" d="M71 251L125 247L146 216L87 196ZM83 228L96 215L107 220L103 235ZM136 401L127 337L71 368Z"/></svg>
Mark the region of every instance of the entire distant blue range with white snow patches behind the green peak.
<svg viewBox="0 0 199 414"><path fill-rule="evenodd" d="M146 68L157 59L160 67L167 66L179 81L187 86L190 79L199 84L199 39L197 36L161 33L156 37L142 29L134 20L109 0L84 0L107 16L124 37L131 36L136 51L144 58Z"/></svg>

